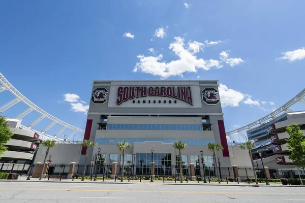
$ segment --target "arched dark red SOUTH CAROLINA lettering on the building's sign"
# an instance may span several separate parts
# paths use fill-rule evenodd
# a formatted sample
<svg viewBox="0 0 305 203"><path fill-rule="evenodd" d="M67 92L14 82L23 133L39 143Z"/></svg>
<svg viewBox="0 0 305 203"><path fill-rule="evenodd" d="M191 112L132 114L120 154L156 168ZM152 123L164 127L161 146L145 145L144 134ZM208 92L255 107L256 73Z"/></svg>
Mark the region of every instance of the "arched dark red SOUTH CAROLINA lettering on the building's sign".
<svg viewBox="0 0 305 203"><path fill-rule="evenodd" d="M116 105L122 104L129 99L146 97L146 96L163 96L176 98L193 105L191 87L118 87Z"/></svg>

